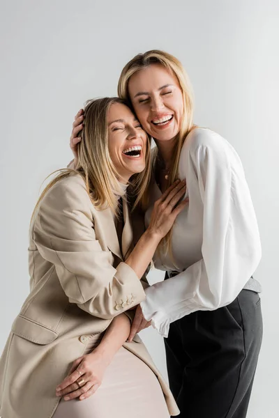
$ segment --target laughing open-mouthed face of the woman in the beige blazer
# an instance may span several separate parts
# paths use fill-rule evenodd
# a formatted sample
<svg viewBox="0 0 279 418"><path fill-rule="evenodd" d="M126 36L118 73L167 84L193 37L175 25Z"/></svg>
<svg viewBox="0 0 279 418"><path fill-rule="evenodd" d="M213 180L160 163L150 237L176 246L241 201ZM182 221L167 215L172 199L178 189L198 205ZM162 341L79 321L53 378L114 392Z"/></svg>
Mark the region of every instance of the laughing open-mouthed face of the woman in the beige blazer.
<svg viewBox="0 0 279 418"><path fill-rule="evenodd" d="M108 114L108 147L119 180L127 183L145 168L147 136L130 109L121 103L111 105Z"/></svg>

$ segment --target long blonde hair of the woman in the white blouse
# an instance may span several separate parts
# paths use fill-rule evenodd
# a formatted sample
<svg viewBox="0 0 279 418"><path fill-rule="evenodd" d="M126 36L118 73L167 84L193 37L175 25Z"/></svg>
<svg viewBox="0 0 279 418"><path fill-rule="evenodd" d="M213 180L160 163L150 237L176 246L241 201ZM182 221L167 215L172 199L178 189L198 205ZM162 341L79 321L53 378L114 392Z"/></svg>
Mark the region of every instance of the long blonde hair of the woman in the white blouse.
<svg viewBox="0 0 279 418"><path fill-rule="evenodd" d="M169 170L168 186L171 185L178 176L179 170L179 157L183 143L188 135L188 133L193 130L195 125L193 125L193 89L190 84L189 77L186 71L183 68L181 62L176 59L173 55L168 54L167 52L160 51L159 49L151 49L151 51L144 52L144 54L137 54L131 59L123 68L118 84L118 95L119 98L126 100L132 105L130 99L128 84L130 77L136 72L142 70L143 68L149 67L152 64L163 65L167 70L172 72L176 76L179 85L181 87L183 95L183 117L181 120L180 131L177 134L176 146L174 148L174 154L172 157L172 162ZM154 150L152 153L152 165L156 164L158 158L158 149ZM149 190L146 189L146 192L142 195L142 206L146 208L149 203ZM160 242L158 246L158 253L161 252L167 253L171 251L170 242L172 238L172 229L165 236L165 238Z"/></svg>

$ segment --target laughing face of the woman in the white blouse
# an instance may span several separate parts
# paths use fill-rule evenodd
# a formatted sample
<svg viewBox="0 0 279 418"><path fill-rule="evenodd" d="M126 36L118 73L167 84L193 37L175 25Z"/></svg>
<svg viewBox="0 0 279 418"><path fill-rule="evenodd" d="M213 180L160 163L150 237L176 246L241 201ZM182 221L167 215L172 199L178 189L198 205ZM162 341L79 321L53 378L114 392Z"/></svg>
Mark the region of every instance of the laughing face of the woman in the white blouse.
<svg viewBox="0 0 279 418"><path fill-rule="evenodd" d="M157 141L174 139L183 118L183 95L175 75L151 64L130 77L128 91L144 130Z"/></svg>

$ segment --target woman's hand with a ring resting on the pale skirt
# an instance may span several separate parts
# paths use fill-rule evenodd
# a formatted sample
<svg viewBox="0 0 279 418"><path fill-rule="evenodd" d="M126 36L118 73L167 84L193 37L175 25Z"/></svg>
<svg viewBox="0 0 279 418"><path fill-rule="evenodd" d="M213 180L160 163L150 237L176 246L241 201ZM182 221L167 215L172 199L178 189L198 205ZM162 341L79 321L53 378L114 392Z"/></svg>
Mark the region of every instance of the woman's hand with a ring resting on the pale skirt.
<svg viewBox="0 0 279 418"><path fill-rule="evenodd" d="M97 349L76 359L68 376L56 387L56 396L64 396L65 401L74 398L80 398L82 401L89 398L102 383L109 364L110 359L104 357Z"/></svg>

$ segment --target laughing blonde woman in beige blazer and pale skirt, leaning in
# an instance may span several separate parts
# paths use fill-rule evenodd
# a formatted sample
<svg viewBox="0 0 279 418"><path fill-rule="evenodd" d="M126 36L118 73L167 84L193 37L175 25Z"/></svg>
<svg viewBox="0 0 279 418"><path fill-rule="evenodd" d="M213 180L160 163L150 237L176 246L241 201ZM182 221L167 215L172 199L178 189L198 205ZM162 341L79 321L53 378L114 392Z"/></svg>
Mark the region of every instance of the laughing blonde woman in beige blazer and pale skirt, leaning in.
<svg viewBox="0 0 279 418"><path fill-rule="evenodd" d="M84 116L76 170L59 173L33 212L31 291L1 356L0 415L178 415L140 338L126 342L124 313L130 309L133 316L144 300L148 285L140 277L186 205L179 203L185 183L176 182L158 200L134 247L126 187L130 180L137 203L149 182L150 138L117 98L92 100Z"/></svg>

